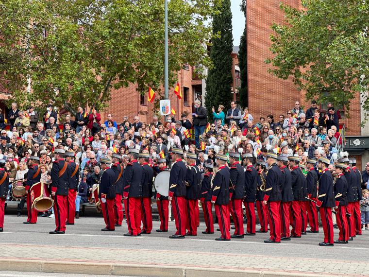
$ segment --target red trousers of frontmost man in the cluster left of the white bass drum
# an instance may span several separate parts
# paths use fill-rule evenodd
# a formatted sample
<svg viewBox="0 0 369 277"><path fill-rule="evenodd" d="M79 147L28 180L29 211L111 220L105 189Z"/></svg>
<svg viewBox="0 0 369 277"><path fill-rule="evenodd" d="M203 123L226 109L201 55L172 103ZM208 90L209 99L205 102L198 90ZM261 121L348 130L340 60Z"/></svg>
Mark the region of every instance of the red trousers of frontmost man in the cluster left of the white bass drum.
<svg viewBox="0 0 369 277"><path fill-rule="evenodd" d="M128 232L133 236L141 234L141 198L128 197L124 200L124 209Z"/></svg>

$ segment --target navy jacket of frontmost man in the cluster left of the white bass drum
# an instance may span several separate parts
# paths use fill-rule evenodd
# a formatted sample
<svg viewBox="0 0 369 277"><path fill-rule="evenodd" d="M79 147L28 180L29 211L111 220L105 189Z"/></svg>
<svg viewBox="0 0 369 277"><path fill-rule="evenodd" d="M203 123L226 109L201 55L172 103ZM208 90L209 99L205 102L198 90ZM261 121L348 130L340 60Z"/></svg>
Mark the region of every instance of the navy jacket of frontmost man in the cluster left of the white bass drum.
<svg viewBox="0 0 369 277"><path fill-rule="evenodd" d="M132 160L127 164L123 178L124 197L142 197L142 175L144 170L137 160Z"/></svg>

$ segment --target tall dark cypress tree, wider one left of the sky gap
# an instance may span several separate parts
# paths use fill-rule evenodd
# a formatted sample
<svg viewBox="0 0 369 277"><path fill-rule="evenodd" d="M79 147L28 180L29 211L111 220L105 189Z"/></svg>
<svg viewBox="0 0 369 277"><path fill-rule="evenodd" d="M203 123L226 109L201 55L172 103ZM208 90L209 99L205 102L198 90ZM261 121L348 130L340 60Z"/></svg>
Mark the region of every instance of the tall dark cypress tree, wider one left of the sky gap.
<svg viewBox="0 0 369 277"><path fill-rule="evenodd" d="M213 20L213 38L210 59L213 67L209 69L206 79L206 108L211 114L211 108L219 104L229 106L232 100L232 13L231 1L223 0L219 13Z"/></svg>

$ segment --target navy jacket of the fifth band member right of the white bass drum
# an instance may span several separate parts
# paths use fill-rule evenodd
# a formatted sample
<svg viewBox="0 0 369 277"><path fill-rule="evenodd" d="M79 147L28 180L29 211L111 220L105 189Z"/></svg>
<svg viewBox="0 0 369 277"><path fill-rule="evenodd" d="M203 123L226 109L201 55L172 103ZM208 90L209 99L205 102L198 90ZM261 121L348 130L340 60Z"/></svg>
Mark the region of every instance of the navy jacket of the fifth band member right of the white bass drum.
<svg viewBox="0 0 369 277"><path fill-rule="evenodd" d="M245 171L243 167L235 162L230 168L229 192L231 199L245 198Z"/></svg>

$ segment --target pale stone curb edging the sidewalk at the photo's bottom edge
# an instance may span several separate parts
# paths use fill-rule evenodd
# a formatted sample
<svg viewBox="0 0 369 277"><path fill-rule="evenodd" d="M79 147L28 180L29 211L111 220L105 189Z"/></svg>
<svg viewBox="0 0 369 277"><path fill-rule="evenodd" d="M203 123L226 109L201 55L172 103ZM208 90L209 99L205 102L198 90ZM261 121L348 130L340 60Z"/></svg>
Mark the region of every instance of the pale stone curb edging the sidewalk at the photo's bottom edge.
<svg viewBox="0 0 369 277"><path fill-rule="evenodd" d="M306 274L272 270L214 269L203 267L99 263L56 260L0 259L0 271L65 273L89 275L124 275L150 277L332 277L336 274ZM347 276L347 275L346 275Z"/></svg>

